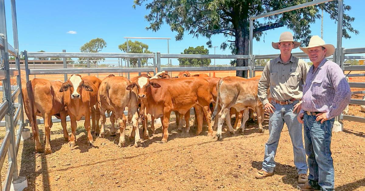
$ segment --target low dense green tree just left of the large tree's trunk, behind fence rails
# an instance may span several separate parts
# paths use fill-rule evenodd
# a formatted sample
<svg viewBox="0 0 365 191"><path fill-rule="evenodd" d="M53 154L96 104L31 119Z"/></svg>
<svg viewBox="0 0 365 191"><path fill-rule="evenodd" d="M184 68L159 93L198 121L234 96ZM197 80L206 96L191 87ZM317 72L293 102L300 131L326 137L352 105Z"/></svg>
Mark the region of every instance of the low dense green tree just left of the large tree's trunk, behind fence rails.
<svg viewBox="0 0 365 191"><path fill-rule="evenodd" d="M184 49L184 52L181 52L182 54L202 54L202 55L208 55L209 50L207 48L204 48L204 46L197 46L197 47L189 47ZM210 59L192 59L192 58L179 58L179 65L210 65L211 60Z"/></svg>

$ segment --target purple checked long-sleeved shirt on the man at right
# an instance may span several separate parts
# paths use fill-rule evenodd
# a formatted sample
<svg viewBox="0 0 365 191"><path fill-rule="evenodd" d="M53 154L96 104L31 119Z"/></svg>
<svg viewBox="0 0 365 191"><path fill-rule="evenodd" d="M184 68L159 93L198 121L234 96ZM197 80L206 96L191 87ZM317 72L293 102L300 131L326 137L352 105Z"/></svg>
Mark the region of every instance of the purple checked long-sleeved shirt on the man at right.
<svg viewBox="0 0 365 191"><path fill-rule="evenodd" d="M332 119L341 114L350 99L350 85L339 65L323 59L317 69L312 65L308 71L300 113L327 112L327 119Z"/></svg>

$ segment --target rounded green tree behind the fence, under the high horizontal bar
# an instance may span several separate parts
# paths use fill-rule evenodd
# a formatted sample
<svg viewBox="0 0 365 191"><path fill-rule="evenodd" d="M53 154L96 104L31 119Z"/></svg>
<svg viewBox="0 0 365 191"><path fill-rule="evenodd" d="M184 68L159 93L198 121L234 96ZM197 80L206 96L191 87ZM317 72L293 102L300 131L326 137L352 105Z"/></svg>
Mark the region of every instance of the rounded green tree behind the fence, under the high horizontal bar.
<svg viewBox="0 0 365 191"><path fill-rule="evenodd" d="M123 51L127 52L127 42L123 44L119 44L118 48ZM134 41L128 40L128 53L152 53L148 50L148 45L141 43L140 41ZM124 59L123 59L124 60ZM138 59L137 58L131 58L129 59L129 63L131 65L137 65ZM147 59L141 59L141 64L145 65L147 63Z"/></svg>

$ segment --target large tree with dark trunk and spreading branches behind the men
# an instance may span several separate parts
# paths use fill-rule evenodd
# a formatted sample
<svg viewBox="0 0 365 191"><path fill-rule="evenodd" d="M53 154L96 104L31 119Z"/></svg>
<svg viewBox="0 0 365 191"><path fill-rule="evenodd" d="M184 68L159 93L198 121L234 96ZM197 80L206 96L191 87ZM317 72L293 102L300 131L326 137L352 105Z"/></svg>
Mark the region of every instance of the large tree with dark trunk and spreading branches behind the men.
<svg viewBox="0 0 365 191"><path fill-rule="evenodd" d="M167 23L170 29L177 32L176 40L183 40L187 32L194 37L208 38L207 45L212 47L211 36L223 34L227 40L220 45L221 49L230 48L233 54L249 54L249 17L260 15L307 3L312 0L134 0L133 7L146 5L150 12L145 16L149 22L146 29L158 31L161 25ZM310 6L285 12L279 15L254 20L254 38L260 40L265 31L287 27L293 31L294 39L306 46L311 37L310 25L320 18L320 9L329 13L331 19L337 19L338 1ZM349 32L358 34L351 26L355 20L346 12L351 10L344 5L343 37L350 38ZM230 39L233 40L230 40ZM237 60L237 66L248 66L247 59ZM237 71L238 76L247 77L247 71Z"/></svg>

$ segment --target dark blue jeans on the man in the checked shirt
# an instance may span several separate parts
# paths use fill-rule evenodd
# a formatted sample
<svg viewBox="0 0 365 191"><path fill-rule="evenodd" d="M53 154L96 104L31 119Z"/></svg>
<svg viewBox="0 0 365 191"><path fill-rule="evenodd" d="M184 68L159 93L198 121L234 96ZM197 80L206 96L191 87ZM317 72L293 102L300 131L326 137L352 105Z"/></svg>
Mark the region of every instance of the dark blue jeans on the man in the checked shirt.
<svg viewBox="0 0 365 191"><path fill-rule="evenodd" d="M334 190L335 173L331 156L331 136L335 119L316 122L316 116L304 114L304 142L308 156L310 185L325 191Z"/></svg>

